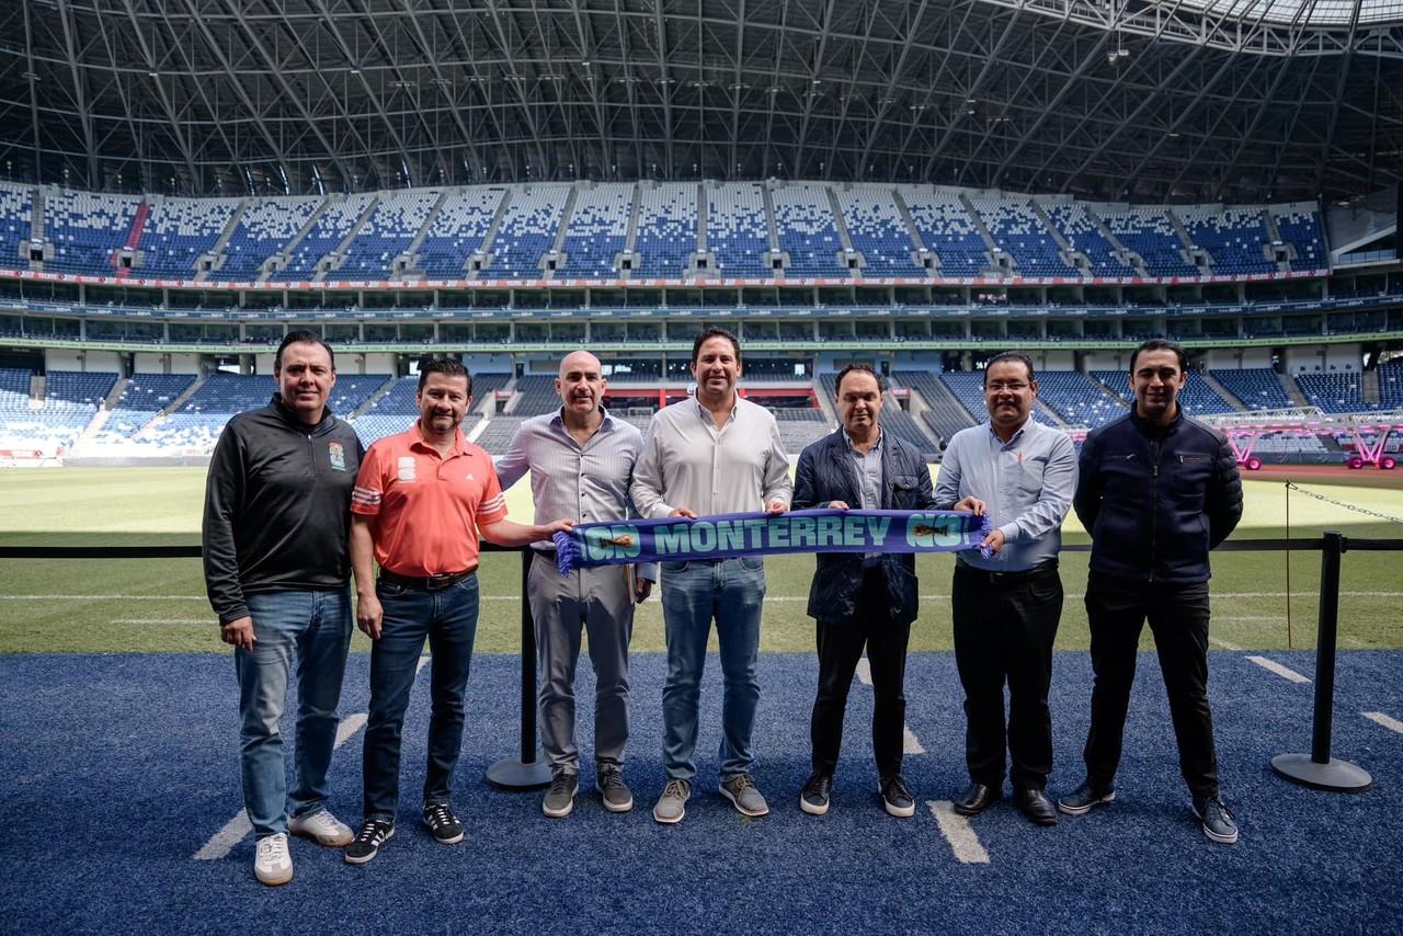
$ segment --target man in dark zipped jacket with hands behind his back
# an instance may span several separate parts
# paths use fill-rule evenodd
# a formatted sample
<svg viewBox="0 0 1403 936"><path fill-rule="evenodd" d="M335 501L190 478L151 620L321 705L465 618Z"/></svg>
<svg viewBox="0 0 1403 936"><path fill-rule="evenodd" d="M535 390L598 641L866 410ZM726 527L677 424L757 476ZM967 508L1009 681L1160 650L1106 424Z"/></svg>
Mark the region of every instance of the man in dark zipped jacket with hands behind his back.
<svg viewBox="0 0 1403 936"><path fill-rule="evenodd" d="M1080 815L1115 798L1115 768L1135 653L1149 619L1194 814L1215 841L1237 841L1218 794L1208 710L1208 550L1242 519L1242 479L1228 441L1187 418L1177 396L1183 349L1152 338L1131 355L1135 407L1082 445L1073 508L1092 535L1086 615L1092 627L1092 728L1086 780L1058 800Z"/></svg>

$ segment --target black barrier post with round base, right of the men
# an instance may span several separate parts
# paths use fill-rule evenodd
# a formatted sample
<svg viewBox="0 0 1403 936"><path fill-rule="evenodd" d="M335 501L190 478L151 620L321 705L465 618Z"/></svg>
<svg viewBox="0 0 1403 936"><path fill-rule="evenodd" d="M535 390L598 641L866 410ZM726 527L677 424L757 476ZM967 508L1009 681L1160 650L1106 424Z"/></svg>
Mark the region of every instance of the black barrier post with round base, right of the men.
<svg viewBox="0 0 1403 936"><path fill-rule="evenodd" d="M1340 624L1340 556L1347 540L1338 532L1327 532L1320 553L1320 623L1316 634L1315 726L1310 733L1310 754L1278 754L1271 769L1291 780L1316 790L1334 793L1364 793L1374 786L1374 777L1348 761L1330 756L1330 730L1334 718L1334 648Z"/></svg>

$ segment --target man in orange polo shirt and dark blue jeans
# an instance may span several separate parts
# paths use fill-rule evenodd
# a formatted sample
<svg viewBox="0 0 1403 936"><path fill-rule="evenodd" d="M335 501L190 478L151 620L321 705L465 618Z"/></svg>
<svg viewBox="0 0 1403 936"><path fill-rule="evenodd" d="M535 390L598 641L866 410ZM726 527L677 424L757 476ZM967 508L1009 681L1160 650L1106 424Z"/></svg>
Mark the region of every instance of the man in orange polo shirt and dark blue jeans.
<svg viewBox="0 0 1403 936"><path fill-rule="evenodd" d="M345 859L363 864L394 835L400 737L425 637L432 648L432 714L424 825L445 845L463 841L449 805L463 748L463 690L477 631L477 535L526 546L572 526L506 519L492 459L463 438L473 380L462 362L435 358L419 370L419 420L380 439L351 494L351 568L356 623L372 641L365 728L365 818ZM380 567L375 581L373 567Z"/></svg>

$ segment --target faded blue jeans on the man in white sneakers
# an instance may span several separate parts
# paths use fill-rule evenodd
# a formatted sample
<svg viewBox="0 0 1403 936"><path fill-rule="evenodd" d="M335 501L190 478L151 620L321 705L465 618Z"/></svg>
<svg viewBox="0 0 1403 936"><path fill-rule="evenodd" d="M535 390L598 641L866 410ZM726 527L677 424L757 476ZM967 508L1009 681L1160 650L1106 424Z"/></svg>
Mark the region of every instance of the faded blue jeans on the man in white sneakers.
<svg viewBox="0 0 1403 936"><path fill-rule="evenodd" d="M248 595L254 648L234 650L239 678L239 762L244 808L254 835L288 831L327 798L327 768L337 742L337 703L351 648L351 589ZM297 655L297 737L293 786L282 754L288 671Z"/></svg>

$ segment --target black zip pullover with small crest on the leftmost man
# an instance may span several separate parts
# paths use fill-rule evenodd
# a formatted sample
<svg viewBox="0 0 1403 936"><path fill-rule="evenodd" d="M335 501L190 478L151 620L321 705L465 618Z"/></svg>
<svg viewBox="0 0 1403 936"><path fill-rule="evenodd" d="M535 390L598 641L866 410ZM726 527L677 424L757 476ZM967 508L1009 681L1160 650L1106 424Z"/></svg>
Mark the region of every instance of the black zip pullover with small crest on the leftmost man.
<svg viewBox="0 0 1403 936"><path fill-rule="evenodd" d="M309 427L278 396L219 436L205 484L205 588L227 624L244 595L351 581L351 488L365 448L331 410Z"/></svg>

